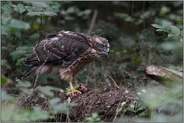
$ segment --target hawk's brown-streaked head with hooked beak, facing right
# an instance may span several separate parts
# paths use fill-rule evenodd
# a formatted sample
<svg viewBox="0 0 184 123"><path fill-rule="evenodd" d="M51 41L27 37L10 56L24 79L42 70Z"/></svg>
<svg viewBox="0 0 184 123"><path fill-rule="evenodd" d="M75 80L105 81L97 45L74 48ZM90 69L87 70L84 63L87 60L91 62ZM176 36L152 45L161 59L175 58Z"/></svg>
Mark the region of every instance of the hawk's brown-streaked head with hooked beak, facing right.
<svg viewBox="0 0 184 123"><path fill-rule="evenodd" d="M93 37L93 48L100 53L100 55L108 55L109 47L110 45L107 39L102 37Z"/></svg>

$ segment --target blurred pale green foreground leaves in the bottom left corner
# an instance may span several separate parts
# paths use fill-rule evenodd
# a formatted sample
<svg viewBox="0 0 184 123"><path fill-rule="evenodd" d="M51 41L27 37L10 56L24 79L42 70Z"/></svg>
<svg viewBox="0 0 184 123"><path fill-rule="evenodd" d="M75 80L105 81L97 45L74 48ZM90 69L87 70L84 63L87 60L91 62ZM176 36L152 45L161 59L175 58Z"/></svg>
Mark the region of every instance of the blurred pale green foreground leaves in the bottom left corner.
<svg viewBox="0 0 184 123"><path fill-rule="evenodd" d="M34 107L33 109L20 109L19 103L17 102L15 97L10 96L4 90L1 91L1 103L1 120L3 122L25 122L51 118L49 112L42 110L41 107Z"/></svg>

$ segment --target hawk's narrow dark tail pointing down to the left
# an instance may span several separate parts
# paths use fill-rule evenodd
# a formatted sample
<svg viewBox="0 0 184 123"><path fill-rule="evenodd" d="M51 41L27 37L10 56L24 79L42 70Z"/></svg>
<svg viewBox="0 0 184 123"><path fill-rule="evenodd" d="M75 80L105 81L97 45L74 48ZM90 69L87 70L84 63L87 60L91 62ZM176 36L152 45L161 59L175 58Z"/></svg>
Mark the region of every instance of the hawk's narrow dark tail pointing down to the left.
<svg viewBox="0 0 184 123"><path fill-rule="evenodd" d="M15 81L20 81L24 78L26 78L27 76L29 76L29 74L31 74L35 69L37 68L37 66L32 65L30 66L26 71L24 71L19 77L15 78Z"/></svg>

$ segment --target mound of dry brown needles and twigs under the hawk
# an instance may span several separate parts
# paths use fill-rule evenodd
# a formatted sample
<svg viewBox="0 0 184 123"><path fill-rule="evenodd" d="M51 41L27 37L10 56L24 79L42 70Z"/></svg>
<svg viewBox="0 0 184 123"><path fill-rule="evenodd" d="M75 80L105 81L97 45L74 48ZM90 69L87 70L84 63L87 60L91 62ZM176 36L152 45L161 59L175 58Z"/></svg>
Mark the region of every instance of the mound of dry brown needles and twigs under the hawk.
<svg viewBox="0 0 184 123"><path fill-rule="evenodd" d="M95 112L98 113L101 120L113 121L114 118L117 117L119 113L118 110L121 108L123 102L129 107L133 101L139 100L134 89L111 86L97 88L77 97L69 97L65 92L57 93L56 97L60 98L59 103L75 103L77 105L68 105L69 115L58 113L54 119L49 119L49 122L85 121L86 117L91 116L91 114ZM19 96L18 99L24 108L41 106L43 109L51 111L48 103L49 98L43 94L36 92L32 95Z"/></svg>

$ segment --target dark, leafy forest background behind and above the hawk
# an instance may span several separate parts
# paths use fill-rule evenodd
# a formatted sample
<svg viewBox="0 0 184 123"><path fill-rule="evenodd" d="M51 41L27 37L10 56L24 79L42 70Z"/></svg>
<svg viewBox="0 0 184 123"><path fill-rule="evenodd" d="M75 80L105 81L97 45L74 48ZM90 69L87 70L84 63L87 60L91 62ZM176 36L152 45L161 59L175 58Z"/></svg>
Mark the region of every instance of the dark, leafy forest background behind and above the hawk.
<svg viewBox="0 0 184 123"><path fill-rule="evenodd" d="M36 43L60 30L87 33L95 10L97 17L91 35L109 40L110 56L87 65L79 72L78 82L98 86L106 81L108 74L118 84L127 84L135 76L140 85L147 65L182 65L181 43L151 26L167 21L182 29L182 2L2 2L2 8L1 72L12 81L27 68L23 60L33 52ZM167 48L165 43L172 48ZM65 88L64 82L58 81L61 81L58 77L49 75L42 77L40 83Z"/></svg>

